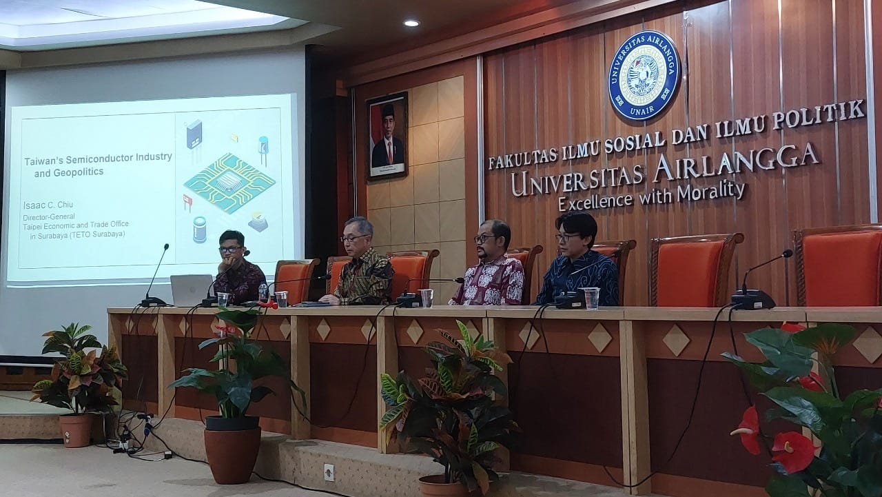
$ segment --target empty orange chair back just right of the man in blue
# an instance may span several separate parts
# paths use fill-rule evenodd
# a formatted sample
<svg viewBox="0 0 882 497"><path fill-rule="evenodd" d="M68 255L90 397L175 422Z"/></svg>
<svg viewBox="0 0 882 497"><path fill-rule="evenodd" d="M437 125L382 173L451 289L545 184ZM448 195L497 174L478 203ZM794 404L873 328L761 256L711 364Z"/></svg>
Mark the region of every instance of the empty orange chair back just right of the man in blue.
<svg viewBox="0 0 882 497"><path fill-rule="evenodd" d="M741 233L653 238L650 305L725 305L732 255L743 241Z"/></svg>

